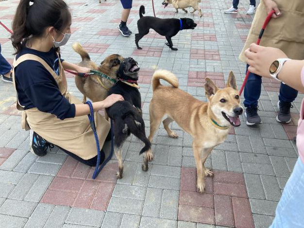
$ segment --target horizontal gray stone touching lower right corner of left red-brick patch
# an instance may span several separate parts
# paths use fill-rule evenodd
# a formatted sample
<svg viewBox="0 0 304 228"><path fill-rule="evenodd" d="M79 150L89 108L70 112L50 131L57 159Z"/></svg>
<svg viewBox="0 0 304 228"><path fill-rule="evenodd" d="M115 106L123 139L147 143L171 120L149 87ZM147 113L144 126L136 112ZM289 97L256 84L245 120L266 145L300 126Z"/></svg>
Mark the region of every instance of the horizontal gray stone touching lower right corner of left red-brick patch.
<svg viewBox="0 0 304 228"><path fill-rule="evenodd" d="M140 215L144 201L112 197L108 206L109 212L128 213Z"/></svg>

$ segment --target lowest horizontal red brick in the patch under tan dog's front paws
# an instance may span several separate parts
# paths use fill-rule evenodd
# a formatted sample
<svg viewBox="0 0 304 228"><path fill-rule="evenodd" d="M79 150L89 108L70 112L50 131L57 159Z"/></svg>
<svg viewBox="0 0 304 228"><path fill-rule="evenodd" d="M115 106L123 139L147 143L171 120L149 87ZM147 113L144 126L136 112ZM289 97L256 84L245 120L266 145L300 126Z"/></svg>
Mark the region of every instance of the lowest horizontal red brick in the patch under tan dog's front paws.
<svg viewBox="0 0 304 228"><path fill-rule="evenodd" d="M214 209L181 204L178 207L178 220L214 225Z"/></svg>

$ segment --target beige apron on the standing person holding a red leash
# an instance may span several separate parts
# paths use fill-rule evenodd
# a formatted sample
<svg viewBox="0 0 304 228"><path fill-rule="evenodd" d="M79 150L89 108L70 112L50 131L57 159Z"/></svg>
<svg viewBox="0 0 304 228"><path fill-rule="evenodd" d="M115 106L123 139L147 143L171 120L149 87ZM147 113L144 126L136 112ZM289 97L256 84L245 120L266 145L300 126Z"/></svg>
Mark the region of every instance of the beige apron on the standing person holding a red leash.
<svg viewBox="0 0 304 228"><path fill-rule="evenodd" d="M265 28L261 39L261 46L283 50L288 58L304 59L304 0L274 0L282 15L276 19L271 18ZM256 43L267 11L263 1L257 7L247 41L239 56L246 62L244 51L249 45Z"/></svg>

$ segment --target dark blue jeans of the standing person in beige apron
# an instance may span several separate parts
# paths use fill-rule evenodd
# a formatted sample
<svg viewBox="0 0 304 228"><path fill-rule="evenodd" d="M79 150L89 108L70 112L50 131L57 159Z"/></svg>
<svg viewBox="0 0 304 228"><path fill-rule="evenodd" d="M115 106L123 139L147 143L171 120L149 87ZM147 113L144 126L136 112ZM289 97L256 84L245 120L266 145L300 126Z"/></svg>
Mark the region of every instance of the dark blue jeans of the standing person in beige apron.
<svg viewBox="0 0 304 228"><path fill-rule="evenodd" d="M246 73L248 70L248 66L246 67ZM244 106L245 107L257 107L257 100L261 95L261 87L262 87L262 77L250 73L248 76L248 80L244 87ZM291 88L287 84L281 83L280 86L280 94L279 100L283 102L292 102L298 96L298 91Z"/></svg>

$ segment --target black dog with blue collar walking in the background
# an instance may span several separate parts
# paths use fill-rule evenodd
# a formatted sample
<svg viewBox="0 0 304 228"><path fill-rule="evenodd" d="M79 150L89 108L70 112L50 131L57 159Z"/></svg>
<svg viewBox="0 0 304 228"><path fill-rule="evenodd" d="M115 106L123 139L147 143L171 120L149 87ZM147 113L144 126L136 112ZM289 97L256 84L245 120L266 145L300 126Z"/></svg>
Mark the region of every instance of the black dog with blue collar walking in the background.
<svg viewBox="0 0 304 228"><path fill-rule="evenodd" d="M149 33L150 29L155 30L156 33L166 36L169 46L172 50L177 50L173 48L173 43L171 37L175 36L180 30L183 29L194 29L197 24L191 18L158 18L153 16L142 16L145 14L145 7L143 5L139 8L139 17L137 21L138 33L135 34L135 44L137 49L142 49L138 46L138 41Z"/></svg>

